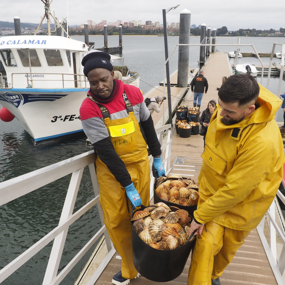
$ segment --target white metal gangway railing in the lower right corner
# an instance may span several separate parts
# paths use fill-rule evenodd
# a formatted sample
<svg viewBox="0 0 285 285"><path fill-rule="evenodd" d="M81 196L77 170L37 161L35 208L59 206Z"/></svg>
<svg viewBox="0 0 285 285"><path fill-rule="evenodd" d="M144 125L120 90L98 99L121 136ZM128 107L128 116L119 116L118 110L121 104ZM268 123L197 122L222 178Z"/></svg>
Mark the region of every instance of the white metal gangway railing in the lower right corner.
<svg viewBox="0 0 285 285"><path fill-rule="evenodd" d="M279 190L277 191L277 196L283 205L285 205L285 197ZM277 198L275 198L275 200L277 200ZM276 215L276 204L278 202L275 200L266 212L266 215L262 221L257 226L257 232L260 236L261 242L263 244L268 261L273 270L278 285L284 285L285 282L282 275L284 275L285 269L285 236L283 227L280 227L280 225L277 223L280 221L280 217L278 214ZM266 230L266 221L269 227L269 241L267 241L264 234Z"/></svg>

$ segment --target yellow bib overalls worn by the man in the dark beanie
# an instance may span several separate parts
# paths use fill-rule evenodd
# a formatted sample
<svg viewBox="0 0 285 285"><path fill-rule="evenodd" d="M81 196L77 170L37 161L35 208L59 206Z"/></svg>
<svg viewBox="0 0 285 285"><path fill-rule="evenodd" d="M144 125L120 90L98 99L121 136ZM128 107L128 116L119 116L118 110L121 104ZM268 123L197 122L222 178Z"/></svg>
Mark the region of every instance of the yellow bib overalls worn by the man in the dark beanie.
<svg viewBox="0 0 285 285"><path fill-rule="evenodd" d="M146 141L133 112L123 119L105 118L116 153L120 156L130 173L131 180L139 192L142 204L149 205L150 169ZM111 127L111 128L110 128ZM123 135L120 135L123 129ZM119 136L118 136L119 135ZM122 258L122 276L133 279L137 275L132 259L131 205L127 201L126 190L115 179L107 166L96 159L96 172L100 189L100 204L104 223Z"/></svg>

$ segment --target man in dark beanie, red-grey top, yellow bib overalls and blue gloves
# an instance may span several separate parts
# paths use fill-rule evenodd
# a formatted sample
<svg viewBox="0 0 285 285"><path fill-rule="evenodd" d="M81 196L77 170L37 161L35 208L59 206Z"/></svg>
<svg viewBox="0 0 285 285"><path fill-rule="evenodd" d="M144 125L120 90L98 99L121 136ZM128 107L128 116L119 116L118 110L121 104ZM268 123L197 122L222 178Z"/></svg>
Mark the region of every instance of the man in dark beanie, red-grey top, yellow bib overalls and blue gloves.
<svg viewBox="0 0 285 285"><path fill-rule="evenodd" d="M132 260L131 205L149 204L146 146L153 155L158 176L165 174L161 149L140 89L114 79L110 55L89 53L82 65L90 90L80 107L80 119L97 154L104 223L122 258L121 271L114 275L112 283L126 285L138 276Z"/></svg>

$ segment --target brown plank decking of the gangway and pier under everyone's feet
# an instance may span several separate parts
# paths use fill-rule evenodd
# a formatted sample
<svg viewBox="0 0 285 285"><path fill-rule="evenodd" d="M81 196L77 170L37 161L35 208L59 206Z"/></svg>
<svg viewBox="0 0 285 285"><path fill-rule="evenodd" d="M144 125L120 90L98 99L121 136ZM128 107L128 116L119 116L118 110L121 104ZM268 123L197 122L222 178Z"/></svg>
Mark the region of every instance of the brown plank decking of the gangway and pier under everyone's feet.
<svg viewBox="0 0 285 285"><path fill-rule="evenodd" d="M230 76L232 70L226 53L212 53L203 69L205 71L205 77L209 83L209 89L207 94L204 94L202 98L200 108L201 112L206 109L210 100L214 99L216 102L218 101L218 91L216 91L215 88L221 86L222 77ZM173 78L175 78L174 75ZM171 87L171 95L174 98L173 102L177 102L180 94L187 92L186 89L187 88ZM163 86L156 86L155 89L147 93L147 97L156 96L155 94L157 92L161 92L161 90L163 90ZM164 115L166 116L166 114L168 115L167 102L164 104L166 107ZM175 106L177 103L173 104ZM191 90L190 92L187 92L186 99L183 101L182 105L193 106L193 95ZM160 126L162 123L162 112L153 113L152 116L155 125ZM171 164L173 162L177 162L177 158L181 158L182 163L184 161L185 164L191 164L193 166L193 171L191 172L193 173L193 179L197 181L202 164L202 158L200 155L204 148L203 137L200 135L191 135L189 138L181 138L176 134L174 124L172 134ZM175 172L175 169L173 169L173 172ZM180 174L182 175L182 173ZM104 272L97 279L94 285L112 284L112 277L121 270L121 260L117 259L117 256L118 253L114 254L114 257L111 259ZM188 270L191 262L190 258L191 254L182 274L178 278L170 282L165 282L164 284L187 284ZM252 230L251 234L245 240L245 243L237 251L236 256L232 260L231 264L226 268L220 280L222 285L277 284L256 229ZM142 276L130 281L130 285L158 284L162 283L152 282Z"/></svg>

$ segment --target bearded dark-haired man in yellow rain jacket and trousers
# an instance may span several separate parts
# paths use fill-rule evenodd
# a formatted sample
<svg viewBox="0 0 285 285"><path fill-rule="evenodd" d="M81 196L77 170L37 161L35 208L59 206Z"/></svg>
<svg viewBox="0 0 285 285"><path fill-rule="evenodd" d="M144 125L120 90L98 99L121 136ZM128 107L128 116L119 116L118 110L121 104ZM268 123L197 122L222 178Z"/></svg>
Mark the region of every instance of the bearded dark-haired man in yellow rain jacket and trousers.
<svg viewBox="0 0 285 285"><path fill-rule="evenodd" d="M230 76L218 96L189 230L198 235L188 285L221 284L223 270L264 217L283 176L284 147L274 120L282 101L248 74Z"/></svg>

